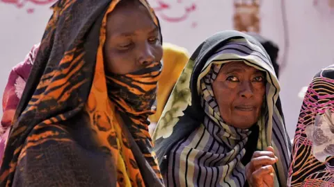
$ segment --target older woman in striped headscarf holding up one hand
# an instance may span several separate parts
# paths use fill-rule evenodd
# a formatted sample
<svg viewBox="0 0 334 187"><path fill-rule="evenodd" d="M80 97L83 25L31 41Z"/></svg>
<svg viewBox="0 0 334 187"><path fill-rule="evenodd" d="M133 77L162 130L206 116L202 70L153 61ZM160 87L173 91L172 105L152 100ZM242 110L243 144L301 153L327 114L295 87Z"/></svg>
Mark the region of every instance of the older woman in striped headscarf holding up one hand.
<svg viewBox="0 0 334 187"><path fill-rule="evenodd" d="M253 37L225 31L200 44L153 135L166 186L286 186L279 91Z"/></svg>

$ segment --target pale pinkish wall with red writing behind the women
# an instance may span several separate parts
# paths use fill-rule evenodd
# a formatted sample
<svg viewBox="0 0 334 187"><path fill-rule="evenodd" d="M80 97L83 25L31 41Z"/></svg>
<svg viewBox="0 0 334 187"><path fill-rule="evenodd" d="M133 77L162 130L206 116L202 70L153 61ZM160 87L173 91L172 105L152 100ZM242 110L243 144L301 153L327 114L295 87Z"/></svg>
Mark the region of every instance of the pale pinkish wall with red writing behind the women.
<svg viewBox="0 0 334 187"><path fill-rule="evenodd" d="M148 0L164 42L187 48L220 30L253 30L280 47L281 100L293 138L302 87L334 63L334 0ZM10 69L40 42L54 0L0 0L0 93ZM2 113L0 113L2 115Z"/></svg>

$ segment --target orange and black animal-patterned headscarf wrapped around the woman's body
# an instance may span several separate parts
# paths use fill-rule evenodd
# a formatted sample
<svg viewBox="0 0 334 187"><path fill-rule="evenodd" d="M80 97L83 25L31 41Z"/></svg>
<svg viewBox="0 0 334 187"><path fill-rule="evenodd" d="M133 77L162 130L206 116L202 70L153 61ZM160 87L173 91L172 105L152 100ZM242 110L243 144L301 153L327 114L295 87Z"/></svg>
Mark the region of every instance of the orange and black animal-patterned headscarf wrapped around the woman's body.
<svg viewBox="0 0 334 187"><path fill-rule="evenodd" d="M0 186L163 185L148 134L161 63L126 75L104 69L106 17L120 1L53 6L13 120ZM159 26L148 3L138 1Z"/></svg>

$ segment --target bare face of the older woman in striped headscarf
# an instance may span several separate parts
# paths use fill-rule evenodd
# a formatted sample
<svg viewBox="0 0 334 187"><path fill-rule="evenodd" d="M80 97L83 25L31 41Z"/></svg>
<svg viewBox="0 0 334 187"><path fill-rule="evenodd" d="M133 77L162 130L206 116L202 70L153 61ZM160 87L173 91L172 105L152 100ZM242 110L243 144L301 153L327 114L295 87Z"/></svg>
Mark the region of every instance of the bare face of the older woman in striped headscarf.
<svg viewBox="0 0 334 187"><path fill-rule="evenodd" d="M238 128L257 122L266 91L265 73L244 62L229 62L212 83L223 121Z"/></svg>

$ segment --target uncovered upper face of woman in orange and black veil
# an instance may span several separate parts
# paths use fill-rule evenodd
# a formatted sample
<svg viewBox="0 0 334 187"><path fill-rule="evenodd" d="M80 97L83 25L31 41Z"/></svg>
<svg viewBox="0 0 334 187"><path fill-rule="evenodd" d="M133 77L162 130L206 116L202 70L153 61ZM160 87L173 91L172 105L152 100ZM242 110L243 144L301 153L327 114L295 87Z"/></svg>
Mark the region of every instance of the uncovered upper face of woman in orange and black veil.
<svg viewBox="0 0 334 187"><path fill-rule="evenodd" d="M106 24L104 58L111 73L138 71L161 60L159 28L139 1L121 1Z"/></svg>

